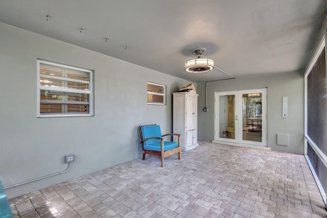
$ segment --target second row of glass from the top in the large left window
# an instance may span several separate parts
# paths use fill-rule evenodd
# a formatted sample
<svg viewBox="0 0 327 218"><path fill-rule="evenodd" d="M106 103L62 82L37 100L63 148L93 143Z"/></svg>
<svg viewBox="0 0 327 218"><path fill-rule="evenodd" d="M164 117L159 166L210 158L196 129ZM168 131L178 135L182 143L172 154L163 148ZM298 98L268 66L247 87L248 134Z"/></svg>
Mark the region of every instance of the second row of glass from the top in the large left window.
<svg viewBox="0 0 327 218"><path fill-rule="evenodd" d="M47 87L89 90L89 85L87 83L79 83L79 82L65 81L65 80L45 78L45 77L41 77L40 84L41 86L47 86Z"/></svg>

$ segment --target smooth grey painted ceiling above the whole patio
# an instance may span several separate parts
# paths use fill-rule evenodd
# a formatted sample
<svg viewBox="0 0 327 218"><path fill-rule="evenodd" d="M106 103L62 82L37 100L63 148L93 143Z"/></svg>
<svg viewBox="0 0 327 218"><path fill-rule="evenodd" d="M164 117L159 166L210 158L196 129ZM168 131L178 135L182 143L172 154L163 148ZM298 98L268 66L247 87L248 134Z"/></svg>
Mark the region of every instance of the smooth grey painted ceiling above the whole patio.
<svg viewBox="0 0 327 218"><path fill-rule="evenodd" d="M326 12L325 0L0 1L0 22L193 82L230 78L186 72L197 47L236 78L304 70Z"/></svg>

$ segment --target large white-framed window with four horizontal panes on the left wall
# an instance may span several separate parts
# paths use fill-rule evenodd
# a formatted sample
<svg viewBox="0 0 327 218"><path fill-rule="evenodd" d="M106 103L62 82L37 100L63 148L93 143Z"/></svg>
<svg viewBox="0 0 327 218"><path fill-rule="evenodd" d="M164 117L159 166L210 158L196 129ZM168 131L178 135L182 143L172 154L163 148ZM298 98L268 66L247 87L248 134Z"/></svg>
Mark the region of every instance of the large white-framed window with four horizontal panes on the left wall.
<svg viewBox="0 0 327 218"><path fill-rule="evenodd" d="M93 71L37 60L37 117L91 116Z"/></svg>

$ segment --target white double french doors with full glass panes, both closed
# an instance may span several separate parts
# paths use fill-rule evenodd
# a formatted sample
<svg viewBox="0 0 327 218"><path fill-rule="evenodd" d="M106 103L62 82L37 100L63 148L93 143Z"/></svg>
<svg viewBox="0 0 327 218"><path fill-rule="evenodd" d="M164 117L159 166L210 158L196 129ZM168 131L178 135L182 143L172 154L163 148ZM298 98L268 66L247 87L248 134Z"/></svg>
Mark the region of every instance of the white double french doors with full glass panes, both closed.
<svg viewBox="0 0 327 218"><path fill-rule="evenodd" d="M215 140L267 147L267 89L215 92Z"/></svg>

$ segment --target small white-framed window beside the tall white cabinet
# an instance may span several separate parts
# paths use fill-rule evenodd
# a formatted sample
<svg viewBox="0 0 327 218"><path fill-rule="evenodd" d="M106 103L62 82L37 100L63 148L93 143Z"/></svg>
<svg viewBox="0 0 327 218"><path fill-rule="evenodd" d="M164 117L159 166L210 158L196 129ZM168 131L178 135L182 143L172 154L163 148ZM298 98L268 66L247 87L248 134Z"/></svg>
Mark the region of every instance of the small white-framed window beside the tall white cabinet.
<svg viewBox="0 0 327 218"><path fill-rule="evenodd" d="M166 86L147 83L148 105L166 105Z"/></svg>

